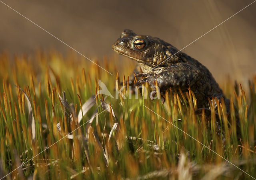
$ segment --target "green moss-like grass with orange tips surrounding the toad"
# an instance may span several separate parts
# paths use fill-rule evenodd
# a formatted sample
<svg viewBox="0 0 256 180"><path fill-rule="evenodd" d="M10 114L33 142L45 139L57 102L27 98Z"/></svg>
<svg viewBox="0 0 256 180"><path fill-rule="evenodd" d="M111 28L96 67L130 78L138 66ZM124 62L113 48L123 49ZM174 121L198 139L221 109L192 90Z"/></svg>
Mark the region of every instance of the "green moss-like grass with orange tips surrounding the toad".
<svg viewBox="0 0 256 180"><path fill-rule="evenodd" d="M118 58L104 58L100 65L116 74L132 72ZM111 76L72 53L38 51L13 59L2 53L0 63L1 177L12 172L6 179L256 178L256 77L241 86L227 78L220 83L241 122L236 129L234 107L228 121L225 107L218 106L223 144L215 114L195 115L192 92L179 97L170 90L164 105L144 91L129 99L125 88L118 98L94 100L99 79L114 96L122 88L116 79L128 78Z"/></svg>

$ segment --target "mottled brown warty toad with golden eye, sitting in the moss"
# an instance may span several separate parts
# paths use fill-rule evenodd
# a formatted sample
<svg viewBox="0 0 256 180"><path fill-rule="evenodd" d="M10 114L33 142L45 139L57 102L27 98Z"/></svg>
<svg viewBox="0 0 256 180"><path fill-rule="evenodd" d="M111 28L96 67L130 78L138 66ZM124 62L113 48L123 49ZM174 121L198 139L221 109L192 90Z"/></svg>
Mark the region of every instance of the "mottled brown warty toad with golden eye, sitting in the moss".
<svg viewBox="0 0 256 180"><path fill-rule="evenodd" d="M171 44L157 37L137 35L132 30L125 29L112 48L138 62L142 74L136 76L145 78L135 85L148 82L154 86L154 81L157 81L162 93L169 88L180 88L182 92L186 92L190 87L197 98L198 108L209 108L208 99L212 97L219 100L224 98L229 107L229 100L225 98L210 71L196 59L182 51L178 52ZM214 106L216 108L216 103Z"/></svg>

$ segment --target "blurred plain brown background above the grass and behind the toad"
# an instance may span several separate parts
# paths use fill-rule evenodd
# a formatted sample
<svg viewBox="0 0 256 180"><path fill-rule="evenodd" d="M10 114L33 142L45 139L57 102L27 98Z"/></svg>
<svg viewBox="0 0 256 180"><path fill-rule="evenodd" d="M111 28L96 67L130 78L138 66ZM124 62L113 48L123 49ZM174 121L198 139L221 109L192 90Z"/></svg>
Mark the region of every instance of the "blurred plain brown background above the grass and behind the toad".
<svg viewBox="0 0 256 180"><path fill-rule="evenodd" d="M86 57L114 57L123 29L152 35L182 49L253 0L2 0ZM256 74L256 2L183 51L212 72L246 82ZM33 54L69 47L0 2L0 53ZM84 59L84 61L88 61ZM124 62L132 62L127 58ZM133 63L133 62L132 62Z"/></svg>

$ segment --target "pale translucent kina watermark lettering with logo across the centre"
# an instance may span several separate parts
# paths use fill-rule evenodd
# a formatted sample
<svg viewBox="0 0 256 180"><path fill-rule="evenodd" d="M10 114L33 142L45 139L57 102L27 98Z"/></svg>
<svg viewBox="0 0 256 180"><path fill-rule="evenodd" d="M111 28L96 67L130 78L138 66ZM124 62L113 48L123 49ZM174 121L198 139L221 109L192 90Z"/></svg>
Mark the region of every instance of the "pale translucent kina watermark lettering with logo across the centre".
<svg viewBox="0 0 256 180"><path fill-rule="evenodd" d="M120 84L118 80L116 80L116 84ZM148 98L148 95L151 100L154 99L160 99L160 88L159 86L150 86L151 91L148 91L148 88L144 85L140 86L134 86L132 85L132 81L129 81L127 84L128 86L121 86L119 90L116 90L115 96L112 96L110 91L108 90L106 84L102 82L100 79L98 80L98 86L100 87L100 90L97 91L96 96L99 94L110 96L111 98L118 99L119 96L122 96L124 99L132 99L132 97L135 97L135 99L139 98L139 94L143 94L144 99ZM126 93L124 93L126 91ZM135 94L135 96L132 96L132 94Z"/></svg>

